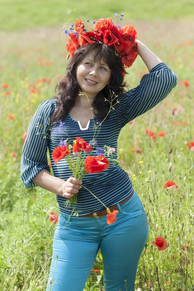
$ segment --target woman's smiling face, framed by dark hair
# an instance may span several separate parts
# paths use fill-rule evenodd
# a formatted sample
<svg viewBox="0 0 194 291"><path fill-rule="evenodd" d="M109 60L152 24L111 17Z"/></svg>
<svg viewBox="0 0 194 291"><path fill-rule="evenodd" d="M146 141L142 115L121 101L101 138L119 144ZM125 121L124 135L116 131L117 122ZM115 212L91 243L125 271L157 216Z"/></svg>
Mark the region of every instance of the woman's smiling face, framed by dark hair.
<svg viewBox="0 0 194 291"><path fill-rule="evenodd" d="M90 51L77 66L76 79L81 91L95 97L110 80L111 70L102 60L94 62L95 51Z"/></svg>

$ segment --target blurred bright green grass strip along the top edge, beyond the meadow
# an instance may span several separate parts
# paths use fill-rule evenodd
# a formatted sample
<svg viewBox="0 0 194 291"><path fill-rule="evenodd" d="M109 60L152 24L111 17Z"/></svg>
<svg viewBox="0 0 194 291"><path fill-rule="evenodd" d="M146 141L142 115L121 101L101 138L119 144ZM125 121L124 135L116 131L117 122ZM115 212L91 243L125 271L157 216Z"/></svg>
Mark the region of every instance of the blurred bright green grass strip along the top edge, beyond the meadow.
<svg viewBox="0 0 194 291"><path fill-rule="evenodd" d="M124 13L123 21L192 18L192 0L0 0L0 30L62 25L85 17L96 20ZM68 15L68 11L72 12ZM74 11L75 10L75 11Z"/></svg>

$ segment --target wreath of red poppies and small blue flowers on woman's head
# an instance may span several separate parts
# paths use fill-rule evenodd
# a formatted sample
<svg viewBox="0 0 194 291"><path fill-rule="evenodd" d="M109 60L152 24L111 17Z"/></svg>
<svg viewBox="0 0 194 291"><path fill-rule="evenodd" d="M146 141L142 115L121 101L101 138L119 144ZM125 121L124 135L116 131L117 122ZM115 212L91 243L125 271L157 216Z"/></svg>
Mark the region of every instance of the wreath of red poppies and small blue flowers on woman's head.
<svg viewBox="0 0 194 291"><path fill-rule="evenodd" d="M86 21L89 22L89 19ZM138 55L137 43L135 43L137 32L134 26L127 24L121 28L116 26L110 17L93 21L93 29L84 24L81 19L77 19L75 25L70 24L69 29L64 29L63 26L63 32L70 36L66 49L71 57L78 47L95 42L104 42L107 46L113 47L116 55L121 58L123 67L133 65Z"/></svg>

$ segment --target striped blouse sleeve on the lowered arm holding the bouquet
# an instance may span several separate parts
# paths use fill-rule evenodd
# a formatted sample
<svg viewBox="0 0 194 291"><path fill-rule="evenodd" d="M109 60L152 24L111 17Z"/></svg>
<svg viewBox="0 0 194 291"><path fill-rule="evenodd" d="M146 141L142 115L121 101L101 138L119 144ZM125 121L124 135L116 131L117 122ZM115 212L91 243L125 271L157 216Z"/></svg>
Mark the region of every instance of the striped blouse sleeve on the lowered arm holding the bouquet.
<svg viewBox="0 0 194 291"><path fill-rule="evenodd" d="M49 118L53 113L53 102L48 99L40 104L30 121L21 158L21 179L26 188L37 186L32 179L43 169L50 172L47 162L48 139L45 133L48 132Z"/></svg>

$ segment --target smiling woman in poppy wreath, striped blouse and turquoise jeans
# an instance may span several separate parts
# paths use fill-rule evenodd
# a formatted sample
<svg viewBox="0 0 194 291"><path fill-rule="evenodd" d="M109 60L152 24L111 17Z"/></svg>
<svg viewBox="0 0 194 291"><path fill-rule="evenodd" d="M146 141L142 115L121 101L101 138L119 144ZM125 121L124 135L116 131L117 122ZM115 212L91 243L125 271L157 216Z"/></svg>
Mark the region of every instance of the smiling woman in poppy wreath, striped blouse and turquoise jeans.
<svg viewBox="0 0 194 291"><path fill-rule="evenodd" d="M136 39L132 26L121 31L111 20L99 19L93 32L85 32L83 22L76 21L75 36L69 33L67 43L71 59L66 76L57 85L57 97L39 106L23 147L21 172L25 187L38 185L57 194L60 207L47 291L83 291L99 249L105 290L134 291L138 261L149 234L143 205L128 174L118 164L110 162L101 174L87 174L80 181L72 177L66 161L55 164L52 158L54 148L65 145L67 139L78 136L92 145L94 125L101 124L95 140L97 154L102 154L106 145L113 148L117 159L122 127L153 108L176 86L177 76ZM131 66L137 54L149 74L136 88L124 93L124 65ZM38 128L45 129L47 135L40 134ZM46 138L48 135L50 138ZM47 165L47 147L54 176ZM82 183L111 212L119 212L116 222L107 225L104 206L85 188L80 189ZM64 202L75 194L77 216L70 217L72 208L65 208Z"/></svg>

